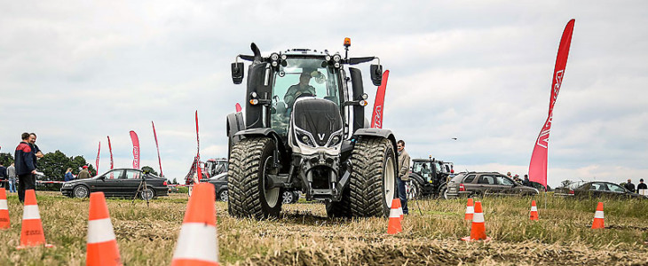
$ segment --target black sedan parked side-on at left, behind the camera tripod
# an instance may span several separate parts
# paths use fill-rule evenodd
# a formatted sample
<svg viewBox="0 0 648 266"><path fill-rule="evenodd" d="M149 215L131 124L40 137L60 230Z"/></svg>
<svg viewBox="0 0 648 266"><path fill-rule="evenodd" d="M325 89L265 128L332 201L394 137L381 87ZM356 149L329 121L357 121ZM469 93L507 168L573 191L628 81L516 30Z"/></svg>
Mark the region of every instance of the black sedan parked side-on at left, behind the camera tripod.
<svg viewBox="0 0 648 266"><path fill-rule="evenodd" d="M131 198L138 192L142 177L145 177L146 189L139 193L141 199L151 200L168 195L169 188L165 178L145 175L142 170L134 168L112 169L101 176L68 181L61 186L60 192L72 198L87 198L91 192L104 192L107 197Z"/></svg>

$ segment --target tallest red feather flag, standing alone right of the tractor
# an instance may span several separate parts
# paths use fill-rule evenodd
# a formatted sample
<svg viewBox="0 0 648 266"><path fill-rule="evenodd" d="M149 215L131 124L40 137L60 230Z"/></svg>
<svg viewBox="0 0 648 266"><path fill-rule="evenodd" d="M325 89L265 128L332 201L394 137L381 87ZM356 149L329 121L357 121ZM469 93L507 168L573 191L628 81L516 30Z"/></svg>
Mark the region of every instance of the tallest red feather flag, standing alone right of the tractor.
<svg viewBox="0 0 648 266"><path fill-rule="evenodd" d="M563 31L563 37L560 39L560 45L558 46L558 54L556 57L556 66L554 66L554 73L551 81L549 115L542 125L542 129L535 141L535 145L533 145L533 153L531 155L531 162L529 163L529 180L544 185L545 189L547 188L547 150L549 148L549 130L551 129L554 105L556 104L560 85L565 76L565 67L567 66L567 58L569 57L569 46L572 43L574 22L575 20L569 20L569 22L567 22L565 31Z"/></svg>

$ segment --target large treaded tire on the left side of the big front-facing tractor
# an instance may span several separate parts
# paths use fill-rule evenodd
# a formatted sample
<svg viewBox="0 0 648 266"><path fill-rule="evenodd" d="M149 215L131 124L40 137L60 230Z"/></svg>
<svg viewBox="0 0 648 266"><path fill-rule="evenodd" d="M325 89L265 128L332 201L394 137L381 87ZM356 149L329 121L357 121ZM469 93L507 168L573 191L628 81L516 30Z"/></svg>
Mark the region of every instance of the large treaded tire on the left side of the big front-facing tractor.
<svg viewBox="0 0 648 266"><path fill-rule="evenodd" d="M234 217L262 220L281 212L281 188L265 189L265 174L276 174L273 140L245 138L233 145L228 171L228 211Z"/></svg>

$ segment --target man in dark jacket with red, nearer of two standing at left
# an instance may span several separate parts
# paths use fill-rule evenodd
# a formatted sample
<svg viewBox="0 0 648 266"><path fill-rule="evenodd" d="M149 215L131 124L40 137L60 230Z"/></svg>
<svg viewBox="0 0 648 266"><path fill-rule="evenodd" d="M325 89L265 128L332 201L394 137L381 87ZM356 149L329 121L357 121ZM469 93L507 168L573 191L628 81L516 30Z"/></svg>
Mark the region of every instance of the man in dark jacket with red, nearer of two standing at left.
<svg viewBox="0 0 648 266"><path fill-rule="evenodd" d="M29 133L20 135L22 141L16 147L14 154L16 175L18 175L18 200L25 201L26 190L36 190L36 156L29 145Z"/></svg>

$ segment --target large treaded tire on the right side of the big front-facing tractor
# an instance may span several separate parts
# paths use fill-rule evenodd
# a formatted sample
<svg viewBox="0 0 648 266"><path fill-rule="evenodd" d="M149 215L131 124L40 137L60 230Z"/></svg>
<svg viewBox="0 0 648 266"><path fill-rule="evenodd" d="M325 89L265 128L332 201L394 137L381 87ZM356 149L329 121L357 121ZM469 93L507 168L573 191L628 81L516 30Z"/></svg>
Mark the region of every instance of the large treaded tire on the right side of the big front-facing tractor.
<svg viewBox="0 0 648 266"><path fill-rule="evenodd" d="M391 200L398 197L396 176L399 162L390 140L360 138L353 147L351 161L351 215L386 217L390 213Z"/></svg>

